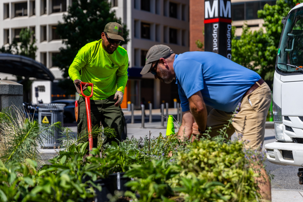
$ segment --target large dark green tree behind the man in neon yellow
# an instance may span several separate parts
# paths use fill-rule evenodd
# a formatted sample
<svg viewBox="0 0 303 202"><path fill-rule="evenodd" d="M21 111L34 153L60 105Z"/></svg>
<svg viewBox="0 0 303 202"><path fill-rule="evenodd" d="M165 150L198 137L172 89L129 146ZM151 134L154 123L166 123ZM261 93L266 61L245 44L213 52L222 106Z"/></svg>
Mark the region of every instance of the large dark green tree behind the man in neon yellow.
<svg viewBox="0 0 303 202"><path fill-rule="evenodd" d="M59 86L65 94L75 94L73 81L68 77L68 68L72 64L80 48L92 41L100 40L101 33L108 22L121 23L115 17L115 11L110 11L111 5L107 0L78 0L73 1L68 14L63 16L63 23L57 25L57 33L63 39L66 48L60 48L60 54L53 58L55 66L63 70L63 79ZM128 30L123 26L123 38L128 42Z"/></svg>

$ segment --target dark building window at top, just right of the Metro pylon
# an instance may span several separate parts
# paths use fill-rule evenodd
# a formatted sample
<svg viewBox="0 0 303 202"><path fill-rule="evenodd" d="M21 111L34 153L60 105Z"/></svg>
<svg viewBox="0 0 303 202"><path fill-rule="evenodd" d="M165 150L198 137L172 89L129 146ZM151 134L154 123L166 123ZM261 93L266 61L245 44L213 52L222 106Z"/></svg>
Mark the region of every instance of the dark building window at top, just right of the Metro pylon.
<svg viewBox="0 0 303 202"><path fill-rule="evenodd" d="M255 1L241 2L231 4L231 19L232 20L251 20L258 19L258 10L264 8L264 5L275 5L276 1Z"/></svg>

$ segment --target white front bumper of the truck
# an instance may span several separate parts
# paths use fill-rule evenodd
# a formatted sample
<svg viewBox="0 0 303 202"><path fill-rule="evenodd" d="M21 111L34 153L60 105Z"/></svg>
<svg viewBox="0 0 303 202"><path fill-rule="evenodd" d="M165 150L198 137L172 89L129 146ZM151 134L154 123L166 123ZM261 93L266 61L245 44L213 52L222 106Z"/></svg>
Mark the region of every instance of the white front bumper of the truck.
<svg viewBox="0 0 303 202"><path fill-rule="evenodd" d="M303 144L292 142L272 142L265 144L269 162L278 165L303 167Z"/></svg>

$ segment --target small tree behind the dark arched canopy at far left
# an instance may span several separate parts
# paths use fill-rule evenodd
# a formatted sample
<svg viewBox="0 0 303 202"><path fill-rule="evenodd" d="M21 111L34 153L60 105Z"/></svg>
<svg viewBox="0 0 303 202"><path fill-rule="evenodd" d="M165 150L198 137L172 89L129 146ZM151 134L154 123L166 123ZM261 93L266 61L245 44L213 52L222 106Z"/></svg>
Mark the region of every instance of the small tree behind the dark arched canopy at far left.
<svg viewBox="0 0 303 202"><path fill-rule="evenodd" d="M14 38L11 44L3 45L0 48L0 53L24 55L35 60L37 46L35 45L36 39L32 39L33 34L34 32L28 28L21 29L19 41ZM23 85L23 101L29 102L32 81L29 78L23 79L22 76L16 76L16 78L17 82Z"/></svg>

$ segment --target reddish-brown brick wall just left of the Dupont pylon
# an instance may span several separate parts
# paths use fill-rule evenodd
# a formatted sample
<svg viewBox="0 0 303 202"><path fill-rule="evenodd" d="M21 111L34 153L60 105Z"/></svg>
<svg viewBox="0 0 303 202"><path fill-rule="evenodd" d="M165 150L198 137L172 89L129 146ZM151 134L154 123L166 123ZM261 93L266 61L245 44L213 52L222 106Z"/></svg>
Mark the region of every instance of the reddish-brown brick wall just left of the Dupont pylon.
<svg viewBox="0 0 303 202"><path fill-rule="evenodd" d="M204 1L189 0L189 51L197 51L196 40L204 42Z"/></svg>

